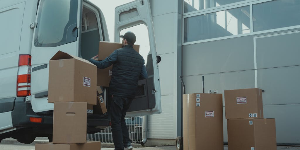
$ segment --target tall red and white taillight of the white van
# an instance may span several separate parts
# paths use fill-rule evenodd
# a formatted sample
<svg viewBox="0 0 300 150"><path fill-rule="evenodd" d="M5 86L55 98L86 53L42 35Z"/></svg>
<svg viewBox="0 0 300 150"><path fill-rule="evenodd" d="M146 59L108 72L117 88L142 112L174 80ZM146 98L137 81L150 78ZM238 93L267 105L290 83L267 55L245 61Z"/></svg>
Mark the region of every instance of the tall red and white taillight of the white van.
<svg viewBox="0 0 300 150"><path fill-rule="evenodd" d="M17 75L17 97L26 97L30 94L31 55L19 55L19 70Z"/></svg>

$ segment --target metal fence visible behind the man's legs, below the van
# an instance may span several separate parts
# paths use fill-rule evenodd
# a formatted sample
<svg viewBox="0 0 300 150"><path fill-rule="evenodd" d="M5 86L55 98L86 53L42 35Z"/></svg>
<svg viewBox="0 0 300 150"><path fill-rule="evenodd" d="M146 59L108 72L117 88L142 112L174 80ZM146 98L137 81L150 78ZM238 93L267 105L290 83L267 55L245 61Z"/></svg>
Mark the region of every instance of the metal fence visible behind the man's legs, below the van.
<svg viewBox="0 0 300 150"><path fill-rule="evenodd" d="M132 143L140 143L143 140L143 117L125 118L127 124L129 137ZM102 143L113 143L113 136L111 127L95 133L87 134L87 141L101 141Z"/></svg>

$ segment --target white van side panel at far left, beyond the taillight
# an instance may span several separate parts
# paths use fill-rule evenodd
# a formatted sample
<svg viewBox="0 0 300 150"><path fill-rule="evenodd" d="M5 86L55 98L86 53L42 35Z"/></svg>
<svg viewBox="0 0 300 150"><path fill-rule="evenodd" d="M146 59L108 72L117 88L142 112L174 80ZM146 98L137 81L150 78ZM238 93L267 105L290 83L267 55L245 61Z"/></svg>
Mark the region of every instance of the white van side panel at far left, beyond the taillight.
<svg viewBox="0 0 300 150"><path fill-rule="evenodd" d="M16 97L16 80L25 1L2 0L0 9L0 99ZM20 2L20 3L17 3Z"/></svg>

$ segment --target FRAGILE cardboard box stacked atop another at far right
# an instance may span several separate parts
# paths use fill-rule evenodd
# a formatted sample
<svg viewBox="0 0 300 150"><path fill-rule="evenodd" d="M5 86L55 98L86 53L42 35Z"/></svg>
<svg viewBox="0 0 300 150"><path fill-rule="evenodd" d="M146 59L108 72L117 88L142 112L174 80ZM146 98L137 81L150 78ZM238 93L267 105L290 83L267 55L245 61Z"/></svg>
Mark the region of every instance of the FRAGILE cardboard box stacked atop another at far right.
<svg viewBox="0 0 300 150"><path fill-rule="evenodd" d="M261 89L225 90L224 98L226 119L263 118Z"/></svg>

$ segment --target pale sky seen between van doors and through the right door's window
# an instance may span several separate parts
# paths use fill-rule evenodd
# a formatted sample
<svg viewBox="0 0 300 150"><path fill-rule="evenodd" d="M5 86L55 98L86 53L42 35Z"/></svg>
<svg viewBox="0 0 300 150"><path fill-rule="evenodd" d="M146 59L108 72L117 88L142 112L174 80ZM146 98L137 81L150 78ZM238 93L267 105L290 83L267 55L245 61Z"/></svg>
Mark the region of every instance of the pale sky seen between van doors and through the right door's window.
<svg viewBox="0 0 300 150"><path fill-rule="evenodd" d="M89 0L89 1L94 3L97 7L99 7L102 13L104 14L110 42L115 42L114 40L115 8L117 6L129 3L134 0ZM120 34L123 35L128 30L133 32L136 35L137 41L135 44L140 45L140 54L145 59L145 62L147 62L146 57L150 50L147 27L145 25L138 25L136 27L122 30Z"/></svg>

